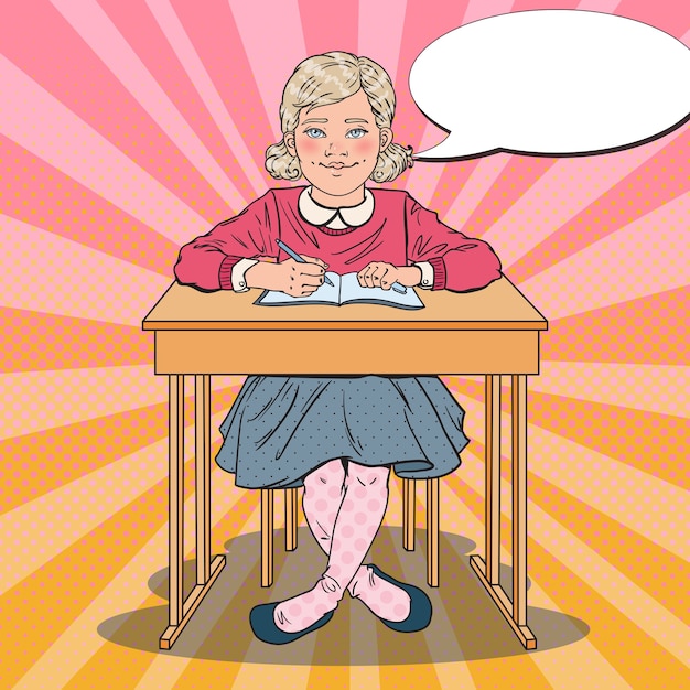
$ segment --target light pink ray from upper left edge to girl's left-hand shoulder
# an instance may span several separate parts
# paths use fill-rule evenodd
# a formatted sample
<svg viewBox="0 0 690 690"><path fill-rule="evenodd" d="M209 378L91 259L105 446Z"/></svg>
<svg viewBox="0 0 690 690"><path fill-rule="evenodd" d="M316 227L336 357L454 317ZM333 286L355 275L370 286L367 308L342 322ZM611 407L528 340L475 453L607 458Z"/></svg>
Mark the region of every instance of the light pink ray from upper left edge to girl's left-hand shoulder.
<svg viewBox="0 0 690 690"><path fill-rule="evenodd" d="M207 220L2 55L0 82L13 94L12 104L0 104L8 138L177 244L208 230Z"/></svg>

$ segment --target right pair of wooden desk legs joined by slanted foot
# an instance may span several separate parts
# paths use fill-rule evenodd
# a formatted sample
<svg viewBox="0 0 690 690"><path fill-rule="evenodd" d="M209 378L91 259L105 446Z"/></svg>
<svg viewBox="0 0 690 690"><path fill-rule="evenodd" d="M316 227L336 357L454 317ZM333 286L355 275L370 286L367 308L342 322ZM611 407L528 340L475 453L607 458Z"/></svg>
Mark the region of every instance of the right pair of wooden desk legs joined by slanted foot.
<svg viewBox="0 0 690 690"><path fill-rule="evenodd" d="M527 376L511 377L513 402L513 601L500 585L500 377L486 377L486 563L470 564L526 649L537 648L527 627Z"/></svg>

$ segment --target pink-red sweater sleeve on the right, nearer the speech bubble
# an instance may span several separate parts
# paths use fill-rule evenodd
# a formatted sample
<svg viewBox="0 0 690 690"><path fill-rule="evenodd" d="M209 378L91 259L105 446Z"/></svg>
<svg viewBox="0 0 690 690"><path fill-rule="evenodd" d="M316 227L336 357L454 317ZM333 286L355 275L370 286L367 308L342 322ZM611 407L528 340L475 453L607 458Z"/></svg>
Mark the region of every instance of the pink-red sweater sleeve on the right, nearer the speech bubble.
<svg viewBox="0 0 690 690"><path fill-rule="evenodd" d="M433 267L433 290L465 292L500 278L500 261L490 246L439 220L411 196L406 200L408 258Z"/></svg>

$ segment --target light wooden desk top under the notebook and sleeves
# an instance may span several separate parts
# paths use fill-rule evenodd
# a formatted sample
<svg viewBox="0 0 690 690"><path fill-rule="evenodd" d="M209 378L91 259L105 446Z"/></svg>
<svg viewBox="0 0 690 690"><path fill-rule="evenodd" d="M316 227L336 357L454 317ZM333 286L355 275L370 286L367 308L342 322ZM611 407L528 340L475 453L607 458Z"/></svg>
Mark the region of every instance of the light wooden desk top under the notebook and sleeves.
<svg viewBox="0 0 690 690"><path fill-rule="evenodd" d="M143 320L144 331L546 331L547 320L505 277L483 290L418 290L424 309L375 304L258 306L260 290L201 292L173 283Z"/></svg>

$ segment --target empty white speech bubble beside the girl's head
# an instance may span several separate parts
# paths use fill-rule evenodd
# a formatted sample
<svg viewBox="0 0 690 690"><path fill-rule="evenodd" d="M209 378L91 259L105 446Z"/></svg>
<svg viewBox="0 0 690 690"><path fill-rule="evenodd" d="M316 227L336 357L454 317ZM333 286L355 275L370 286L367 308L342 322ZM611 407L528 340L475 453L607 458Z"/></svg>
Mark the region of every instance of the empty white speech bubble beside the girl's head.
<svg viewBox="0 0 690 690"><path fill-rule="evenodd" d="M630 19L582 10L490 17L429 45L410 71L420 110L449 137L417 153L591 155L690 118L690 50Z"/></svg>

